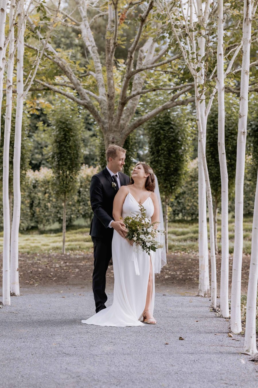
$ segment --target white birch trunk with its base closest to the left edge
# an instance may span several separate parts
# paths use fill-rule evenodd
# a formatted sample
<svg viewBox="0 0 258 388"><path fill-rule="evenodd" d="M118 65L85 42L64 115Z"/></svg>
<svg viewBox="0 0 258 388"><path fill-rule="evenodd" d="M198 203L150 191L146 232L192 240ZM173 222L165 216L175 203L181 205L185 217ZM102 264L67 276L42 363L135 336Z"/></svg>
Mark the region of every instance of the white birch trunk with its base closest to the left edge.
<svg viewBox="0 0 258 388"><path fill-rule="evenodd" d="M9 145L12 118L12 78L14 72L14 16L15 1L10 4L10 43L6 81L6 112L3 142L3 304L10 305L10 207L9 207Z"/></svg>

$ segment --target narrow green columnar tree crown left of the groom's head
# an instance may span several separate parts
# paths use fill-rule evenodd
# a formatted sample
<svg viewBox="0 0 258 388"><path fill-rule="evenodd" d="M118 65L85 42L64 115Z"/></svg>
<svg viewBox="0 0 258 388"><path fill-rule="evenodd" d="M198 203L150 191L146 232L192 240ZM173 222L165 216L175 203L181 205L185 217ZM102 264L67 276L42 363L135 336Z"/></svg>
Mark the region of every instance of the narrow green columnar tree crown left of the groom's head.
<svg viewBox="0 0 258 388"><path fill-rule="evenodd" d="M57 102L57 101L56 101ZM75 181L82 160L82 116L75 104L56 104L50 114L53 134L51 138L51 166L56 194L63 199L75 192Z"/></svg>

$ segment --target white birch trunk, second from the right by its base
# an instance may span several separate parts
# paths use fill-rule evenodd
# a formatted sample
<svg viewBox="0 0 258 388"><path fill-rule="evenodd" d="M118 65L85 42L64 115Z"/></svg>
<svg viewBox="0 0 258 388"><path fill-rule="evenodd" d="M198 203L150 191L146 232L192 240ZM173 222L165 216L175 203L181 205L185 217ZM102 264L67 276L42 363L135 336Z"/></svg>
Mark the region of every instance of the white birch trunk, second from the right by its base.
<svg viewBox="0 0 258 388"><path fill-rule="evenodd" d="M251 46L252 3L244 0L243 58L239 97L239 120L237 133L236 191L235 191L235 239L231 287L231 331L240 333L241 325L241 268L243 255L243 204L244 204L244 162L246 151L246 130L248 114L248 85Z"/></svg>

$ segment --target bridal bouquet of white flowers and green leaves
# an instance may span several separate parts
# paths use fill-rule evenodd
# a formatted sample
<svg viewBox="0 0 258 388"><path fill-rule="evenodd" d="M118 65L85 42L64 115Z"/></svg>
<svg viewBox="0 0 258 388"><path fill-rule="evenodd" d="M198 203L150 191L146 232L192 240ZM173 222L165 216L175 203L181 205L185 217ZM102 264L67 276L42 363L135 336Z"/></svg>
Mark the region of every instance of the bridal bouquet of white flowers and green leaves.
<svg viewBox="0 0 258 388"><path fill-rule="evenodd" d="M126 229L128 230L127 235L129 241L133 242L133 246L138 251L145 251L150 255L150 251L156 251L156 249L163 248L163 245L156 240L157 234L164 234L164 230L155 229L155 225L158 222L150 223L146 216L146 210L144 206L139 204L140 214L135 217L126 216L123 220Z"/></svg>

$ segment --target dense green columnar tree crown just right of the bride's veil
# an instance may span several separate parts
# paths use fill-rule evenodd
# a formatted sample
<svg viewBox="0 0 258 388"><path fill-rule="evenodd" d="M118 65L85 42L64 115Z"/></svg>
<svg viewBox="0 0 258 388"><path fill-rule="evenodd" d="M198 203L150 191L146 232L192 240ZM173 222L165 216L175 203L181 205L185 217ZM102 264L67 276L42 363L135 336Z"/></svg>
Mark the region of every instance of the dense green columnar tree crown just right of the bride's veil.
<svg viewBox="0 0 258 388"><path fill-rule="evenodd" d="M191 150L191 129L185 113L184 109L165 111L148 123L149 163L161 194L168 199L184 179Z"/></svg>

